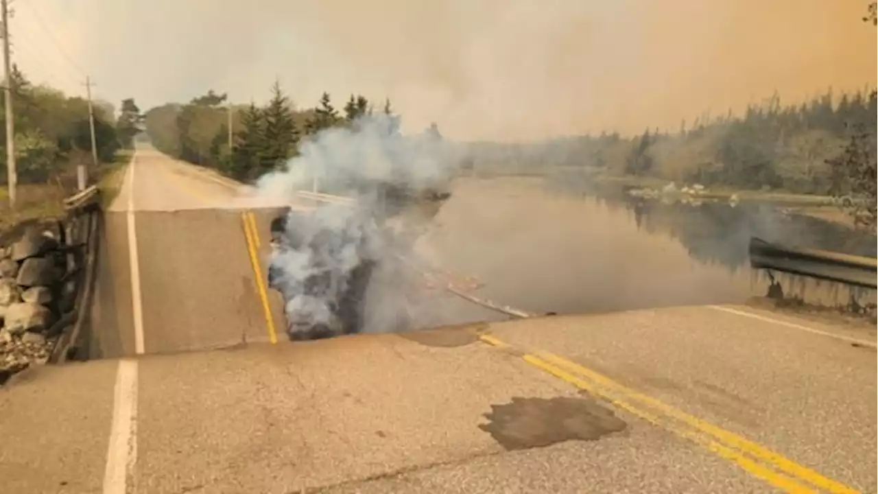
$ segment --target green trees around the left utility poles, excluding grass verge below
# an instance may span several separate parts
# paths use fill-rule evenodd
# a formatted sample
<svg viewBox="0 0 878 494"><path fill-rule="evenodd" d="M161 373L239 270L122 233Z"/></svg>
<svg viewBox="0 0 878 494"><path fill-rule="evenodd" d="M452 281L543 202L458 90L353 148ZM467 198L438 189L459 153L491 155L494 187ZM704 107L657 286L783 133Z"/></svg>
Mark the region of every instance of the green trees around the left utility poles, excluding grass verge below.
<svg viewBox="0 0 878 494"><path fill-rule="evenodd" d="M12 112L15 116L14 147L20 184L71 181L74 165L92 163L89 103L85 98L69 97L45 84L32 84L13 66L11 71ZM5 105L0 93L0 105ZM130 147L136 134L139 110L128 99L123 102L119 120L112 104L94 102L97 156L112 162L116 152ZM5 125L5 116L0 115ZM0 142L0 182L6 183L6 140Z"/></svg>

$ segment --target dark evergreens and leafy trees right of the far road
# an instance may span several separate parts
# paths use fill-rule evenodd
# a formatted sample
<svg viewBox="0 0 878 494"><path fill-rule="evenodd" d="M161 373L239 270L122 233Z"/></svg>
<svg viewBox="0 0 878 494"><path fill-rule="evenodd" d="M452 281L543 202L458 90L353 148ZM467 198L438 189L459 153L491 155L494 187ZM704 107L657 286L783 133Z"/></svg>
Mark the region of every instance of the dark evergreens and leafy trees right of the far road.
<svg viewBox="0 0 878 494"><path fill-rule="evenodd" d="M363 95L351 94L339 110L324 92L313 108L299 109L276 82L265 105L230 105L227 93L209 90L183 105L152 108L144 122L163 153L252 181L296 156L299 145L320 131L354 125L376 111L392 115L390 100L376 109Z"/></svg>

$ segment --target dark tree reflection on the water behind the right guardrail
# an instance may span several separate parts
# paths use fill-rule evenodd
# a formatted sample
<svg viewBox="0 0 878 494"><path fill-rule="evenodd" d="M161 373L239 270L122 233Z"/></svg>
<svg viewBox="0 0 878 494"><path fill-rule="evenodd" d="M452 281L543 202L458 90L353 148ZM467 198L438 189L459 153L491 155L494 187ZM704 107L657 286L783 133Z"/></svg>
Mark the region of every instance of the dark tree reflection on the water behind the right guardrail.
<svg viewBox="0 0 878 494"><path fill-rule="evenodd" d="M550 180L549 184L553 190L594 198L608 207L630 211L638 228L651 235L671 236L691 258L704 264L721 264L732 274L739 270L750 272L747 251L752 236L789 246L878 257L878 237L840 222L796 213L788 207L768 203L730 204L722 200L663 200L642 197L631 186L583 186L569 178ZM786 294L809 303L838 307L850 305L852 301L854 305L878 302L874 290L780 273L751 274L752 294L765 294L774 274L781 280Z"/></svg>

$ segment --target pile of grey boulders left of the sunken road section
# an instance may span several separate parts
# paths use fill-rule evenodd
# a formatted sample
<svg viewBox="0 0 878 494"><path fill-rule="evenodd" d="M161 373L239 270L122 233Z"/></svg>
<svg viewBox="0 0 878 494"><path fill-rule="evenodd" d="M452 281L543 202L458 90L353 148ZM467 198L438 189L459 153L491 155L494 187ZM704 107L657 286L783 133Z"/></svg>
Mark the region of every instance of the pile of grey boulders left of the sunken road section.
<svg viewBox="0 0 878 494"><path fill-rule="evenodd" d="M76 301L62 229L32 227L0 248L0 384L47 362Z"/></svg>

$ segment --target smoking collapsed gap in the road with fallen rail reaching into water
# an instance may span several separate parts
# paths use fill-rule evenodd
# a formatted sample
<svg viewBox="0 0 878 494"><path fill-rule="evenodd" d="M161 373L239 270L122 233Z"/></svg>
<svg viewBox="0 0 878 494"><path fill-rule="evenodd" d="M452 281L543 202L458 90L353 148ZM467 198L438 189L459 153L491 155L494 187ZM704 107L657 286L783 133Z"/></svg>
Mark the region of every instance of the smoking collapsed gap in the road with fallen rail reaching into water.
<svg viewBox="0 0 878 494"><path fill-rule="evenodd" d="M302 193L322 204L289 207L270 223L269 287L283 295L291 340L472 322L450 309L449 294L483 315L536 316L475 296L478 280L421 256L418 240L450 193L388 189L356 200Z"/></svg>

